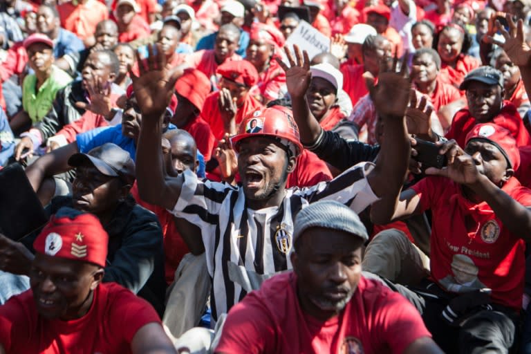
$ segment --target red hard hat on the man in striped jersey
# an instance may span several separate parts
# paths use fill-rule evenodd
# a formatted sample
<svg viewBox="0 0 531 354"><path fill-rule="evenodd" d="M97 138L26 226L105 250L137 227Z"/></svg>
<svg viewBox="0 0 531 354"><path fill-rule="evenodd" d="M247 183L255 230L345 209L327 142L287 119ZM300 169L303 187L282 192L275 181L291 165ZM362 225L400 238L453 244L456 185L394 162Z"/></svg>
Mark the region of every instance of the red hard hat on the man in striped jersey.
<svg viewBox="0 0 531 354"><path fill-rule="evenodd" d="M279 140L288 140L295 145L295 156L302 151L299 128L293 119L293 113L283 106L257 109L245 117L241 121L238 133L230 139L234 151L239 152L240 140L251 136L270 136Z"/></svg>

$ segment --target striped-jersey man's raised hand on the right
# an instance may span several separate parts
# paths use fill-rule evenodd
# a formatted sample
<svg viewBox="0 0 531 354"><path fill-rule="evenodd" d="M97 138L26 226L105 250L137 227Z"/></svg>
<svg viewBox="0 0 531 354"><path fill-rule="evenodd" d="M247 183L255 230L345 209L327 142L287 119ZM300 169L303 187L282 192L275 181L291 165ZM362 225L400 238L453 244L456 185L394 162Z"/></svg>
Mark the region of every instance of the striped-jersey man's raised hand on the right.
<svg viewBox="0 0 531 354"><path fill-rule="evenodd" d="M377 85L375 85L375 77L369 71L363 74L371 100L373 100L378 115L383 119L404 117L406 113L411 95L411 80L407 75L407 57L407 54L404 55L402 66L398 72L397 57L394 58L391 69L389 69L386 60L382 59Z"/></svg>

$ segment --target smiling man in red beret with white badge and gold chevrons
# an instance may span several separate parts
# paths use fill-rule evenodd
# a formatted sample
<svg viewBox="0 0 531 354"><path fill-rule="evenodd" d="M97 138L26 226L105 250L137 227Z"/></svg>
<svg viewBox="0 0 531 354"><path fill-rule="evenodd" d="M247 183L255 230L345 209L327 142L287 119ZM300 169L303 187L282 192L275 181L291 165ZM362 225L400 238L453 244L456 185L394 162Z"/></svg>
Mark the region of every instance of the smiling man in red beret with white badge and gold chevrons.
<svg viewBox="0 0 531 354"><path fill-rule="evenodd" d="M108 241L97 217L57 210L33 243L31 290L0 306L0 353L176 353L146 301L102 283Z"/></svg>

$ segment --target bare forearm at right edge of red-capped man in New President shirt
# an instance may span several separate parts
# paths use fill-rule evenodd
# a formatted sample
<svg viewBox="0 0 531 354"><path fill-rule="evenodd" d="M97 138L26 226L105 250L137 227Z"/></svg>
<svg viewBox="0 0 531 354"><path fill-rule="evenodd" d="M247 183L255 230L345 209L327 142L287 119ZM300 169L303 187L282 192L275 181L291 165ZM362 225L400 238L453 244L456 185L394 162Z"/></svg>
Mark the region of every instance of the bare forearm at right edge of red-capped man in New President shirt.
<svg viewBox="0 0 531 354"><path fill-rule="evenodd" d="M484 175L468 187L487 202L512 234L521 236L527 242L531 241L531 211L527 207L515 201Z"/></svg>

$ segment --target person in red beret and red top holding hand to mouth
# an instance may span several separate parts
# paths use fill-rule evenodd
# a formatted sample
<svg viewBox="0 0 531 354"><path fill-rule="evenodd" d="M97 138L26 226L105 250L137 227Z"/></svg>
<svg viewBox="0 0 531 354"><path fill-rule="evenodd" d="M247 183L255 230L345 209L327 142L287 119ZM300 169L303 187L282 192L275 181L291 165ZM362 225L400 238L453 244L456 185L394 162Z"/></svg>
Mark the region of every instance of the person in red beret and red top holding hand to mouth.
<svg viewBox="0 0 531 354"><path fill-rule="evenodd" d="M243 117L262 104L249 94L250 88L258 82L257 69L250 62L225 62L217 68L216 73L221 76L220 90L207 97L201 113L214 137L221 140L225 133L236 133Z"/></svg>

